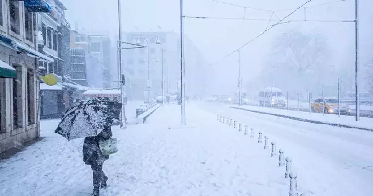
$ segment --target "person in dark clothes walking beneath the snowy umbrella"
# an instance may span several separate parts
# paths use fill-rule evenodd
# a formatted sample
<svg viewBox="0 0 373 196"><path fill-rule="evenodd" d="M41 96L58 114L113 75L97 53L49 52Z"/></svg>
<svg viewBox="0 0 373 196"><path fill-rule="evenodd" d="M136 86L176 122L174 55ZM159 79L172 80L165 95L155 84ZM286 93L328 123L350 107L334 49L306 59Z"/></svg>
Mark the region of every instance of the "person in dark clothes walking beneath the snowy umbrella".
<svg viewBox="0 0 373 196"><path fill-rule="evenodd" d="M101 189L106 189L108 177L102 170L104 162L109 159L109 155L103 155L99 142L109 140L112 137L112 128L110 125L104 127L97 136L84 138L83 144L83 162L91 165L93 171L93 193L92 196L100 195Z"/></svg>

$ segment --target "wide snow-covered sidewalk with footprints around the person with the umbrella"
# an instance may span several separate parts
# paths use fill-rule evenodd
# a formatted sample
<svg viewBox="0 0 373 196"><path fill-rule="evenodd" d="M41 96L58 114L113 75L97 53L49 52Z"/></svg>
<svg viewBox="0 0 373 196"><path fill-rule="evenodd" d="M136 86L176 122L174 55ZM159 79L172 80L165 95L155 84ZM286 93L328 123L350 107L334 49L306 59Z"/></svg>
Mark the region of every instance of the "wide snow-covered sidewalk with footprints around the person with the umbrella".
<svg viewBox="0 0 373 196"><path fill-rule="evenodd" d="M145 124L113 127L119 152L104 164L109 187L101 194L288 195L285 168L263 143L192 104L186 120L181 127L179 106L166 105ZM68 142L54 134L1 162L0 195L89 196L92 171L82 162L81 148L82 139Z"/></svg>

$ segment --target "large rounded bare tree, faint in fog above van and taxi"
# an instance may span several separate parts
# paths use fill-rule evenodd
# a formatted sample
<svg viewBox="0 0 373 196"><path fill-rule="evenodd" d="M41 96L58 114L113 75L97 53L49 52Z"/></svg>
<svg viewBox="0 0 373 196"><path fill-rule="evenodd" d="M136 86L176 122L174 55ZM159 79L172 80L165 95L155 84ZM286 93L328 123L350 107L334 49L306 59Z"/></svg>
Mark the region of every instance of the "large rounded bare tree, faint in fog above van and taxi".
<svg viewBox="0 0 373 196"><path fill-rule="evenodd" d="M322 82L327 53L327 43L321 34L293 29L275 39L271 56L277 59L280 65L276 73L280 72L280 69L286 70L282 77L289 83L296 84L298 90L306 90L312 82ZM318 81L307 80L309 78L316 78Z"/></svg>

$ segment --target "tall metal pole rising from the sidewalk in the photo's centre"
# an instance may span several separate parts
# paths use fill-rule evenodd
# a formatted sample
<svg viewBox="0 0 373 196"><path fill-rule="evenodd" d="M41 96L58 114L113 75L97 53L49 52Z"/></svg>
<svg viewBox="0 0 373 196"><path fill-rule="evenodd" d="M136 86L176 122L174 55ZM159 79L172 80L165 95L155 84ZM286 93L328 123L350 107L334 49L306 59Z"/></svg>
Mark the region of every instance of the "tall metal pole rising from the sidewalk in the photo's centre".
<svg viewBox="0 0 373 196"><path fill-rule="evenodd" d="M181 125L185 125L184 102L184 0L180 0L180 98L181 98Z"/></svg>

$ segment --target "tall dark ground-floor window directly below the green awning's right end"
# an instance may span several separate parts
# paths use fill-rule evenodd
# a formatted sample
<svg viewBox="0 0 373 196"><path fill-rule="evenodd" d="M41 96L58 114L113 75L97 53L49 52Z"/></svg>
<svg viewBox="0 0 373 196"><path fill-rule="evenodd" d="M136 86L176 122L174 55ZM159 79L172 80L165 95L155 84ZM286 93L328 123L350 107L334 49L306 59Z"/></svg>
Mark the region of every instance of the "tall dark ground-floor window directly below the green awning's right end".
<svg viewBox="0 0 373 196"><path fill-rule="evenodd" d="M17 78L13 79L13 129L23 127L22 119L22 66L13 66Z"/></svg>

